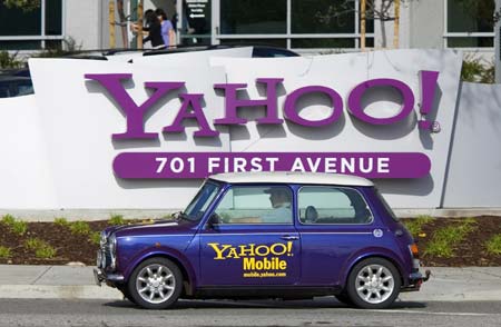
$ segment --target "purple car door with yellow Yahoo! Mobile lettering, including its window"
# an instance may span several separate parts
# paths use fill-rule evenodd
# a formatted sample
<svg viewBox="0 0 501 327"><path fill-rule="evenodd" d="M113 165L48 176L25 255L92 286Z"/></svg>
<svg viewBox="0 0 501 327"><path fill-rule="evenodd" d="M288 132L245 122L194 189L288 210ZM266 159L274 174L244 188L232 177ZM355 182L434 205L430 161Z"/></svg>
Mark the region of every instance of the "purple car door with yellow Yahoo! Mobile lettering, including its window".
<svg viewBox="0 0 501 327"><path fill-rule="evenodd" d="M272 207L269 190L291 201ZM200 237L200 285L292 285L301 271L299 234L286 186L233 186ZM269 212L277 210L277 216Z"/></svg>

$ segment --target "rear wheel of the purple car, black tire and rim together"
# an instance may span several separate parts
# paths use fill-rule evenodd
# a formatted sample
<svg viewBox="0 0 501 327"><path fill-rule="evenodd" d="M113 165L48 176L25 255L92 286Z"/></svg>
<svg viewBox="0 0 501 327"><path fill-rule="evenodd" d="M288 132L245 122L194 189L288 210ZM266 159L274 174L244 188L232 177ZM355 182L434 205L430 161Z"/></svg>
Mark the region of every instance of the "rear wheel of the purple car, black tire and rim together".
<svg viewBox="0 0 501 327"><path fill-rule="evenodd" d="M400 294L401 276L383 258L367 258L353 267L346 291L353 304L363 309L387 308Z"/></svg>

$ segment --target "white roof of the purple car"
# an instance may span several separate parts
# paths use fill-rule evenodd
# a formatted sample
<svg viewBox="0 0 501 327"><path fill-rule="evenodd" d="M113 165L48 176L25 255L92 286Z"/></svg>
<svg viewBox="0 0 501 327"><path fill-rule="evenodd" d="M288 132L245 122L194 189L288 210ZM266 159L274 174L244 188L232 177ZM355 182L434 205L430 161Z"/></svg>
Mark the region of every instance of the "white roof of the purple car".
<svg viewBox="0 0 501 327"><path fill-rule="evenodd" d="M273 171L273 172L226 172L217 174L209 177L228 184L317 184L317 185L341 185L341 186L374 186L374 184L365 178L341 175L341 174L323 174L323 172L291 172L291 171Z"/></svg>

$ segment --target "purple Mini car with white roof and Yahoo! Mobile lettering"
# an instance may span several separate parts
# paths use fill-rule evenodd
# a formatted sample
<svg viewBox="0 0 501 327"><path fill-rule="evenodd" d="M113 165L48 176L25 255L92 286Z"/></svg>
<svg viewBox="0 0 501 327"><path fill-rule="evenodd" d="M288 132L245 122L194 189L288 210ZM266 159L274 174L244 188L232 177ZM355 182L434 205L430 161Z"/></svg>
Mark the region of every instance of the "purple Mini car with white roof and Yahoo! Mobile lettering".
<svg viewBox="0 0 501 327"><path fill-rule="evenodd" d="M184 211L101 232L95 277L149 309L178 298L334 295L389 307L419 290L418 247L366 179L245 172L208 178Z"/></svg>

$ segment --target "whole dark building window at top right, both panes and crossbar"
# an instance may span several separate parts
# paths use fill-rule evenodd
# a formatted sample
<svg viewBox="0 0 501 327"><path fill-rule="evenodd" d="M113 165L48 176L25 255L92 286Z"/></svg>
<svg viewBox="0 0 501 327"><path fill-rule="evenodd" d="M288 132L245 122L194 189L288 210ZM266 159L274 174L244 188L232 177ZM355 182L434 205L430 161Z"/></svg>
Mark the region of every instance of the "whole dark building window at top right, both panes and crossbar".
<svg viewBox="0 0 501 327"><path fill-rule="evenodd" d="M494 0L445 2L445 47L494 47Z"/></svg>

